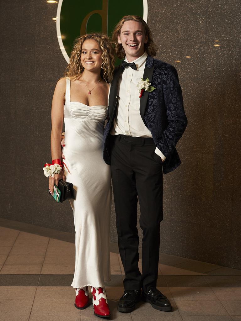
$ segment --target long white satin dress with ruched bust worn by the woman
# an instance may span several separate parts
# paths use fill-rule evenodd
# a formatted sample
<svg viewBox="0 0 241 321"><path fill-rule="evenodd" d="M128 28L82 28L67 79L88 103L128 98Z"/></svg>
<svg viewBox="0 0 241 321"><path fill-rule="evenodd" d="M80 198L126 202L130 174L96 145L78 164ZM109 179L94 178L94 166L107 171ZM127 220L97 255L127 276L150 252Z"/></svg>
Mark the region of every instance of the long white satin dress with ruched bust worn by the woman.
<svg viewBox="0 0 241 321"><path fill-rule="evenodd" d="M75 274L71 286L104 287L110 280L111 169L103 160L106 106L89 107L70 101L66 79L63 153L67 182L75 189L71 200L76 231Z"/></svg>

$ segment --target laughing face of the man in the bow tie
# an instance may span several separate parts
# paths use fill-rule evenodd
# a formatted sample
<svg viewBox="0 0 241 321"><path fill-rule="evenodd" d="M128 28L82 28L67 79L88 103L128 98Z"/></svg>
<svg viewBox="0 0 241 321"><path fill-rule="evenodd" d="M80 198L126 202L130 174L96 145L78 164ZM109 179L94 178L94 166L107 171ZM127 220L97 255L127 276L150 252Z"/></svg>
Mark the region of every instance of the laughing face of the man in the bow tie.
<svg viewBox="0 0 241 321"><path fill-rule="evenodd" d="M125 21L118 35L118 42L122 44L129 62L144 54L147 40L142 24L134 20Z"/></svg>

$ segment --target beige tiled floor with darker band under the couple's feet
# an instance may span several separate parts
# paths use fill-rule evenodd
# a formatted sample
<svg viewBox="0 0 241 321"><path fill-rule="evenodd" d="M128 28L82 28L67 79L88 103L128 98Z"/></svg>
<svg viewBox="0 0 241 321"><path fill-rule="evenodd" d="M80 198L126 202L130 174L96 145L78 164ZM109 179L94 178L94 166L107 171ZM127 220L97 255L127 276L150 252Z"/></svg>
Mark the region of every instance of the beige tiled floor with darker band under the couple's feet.
<svg viewBox="0 0 241 321"><path fill-rule="evenodd" d="M68 233L19 223L19 230L0 227L0 321L100 320L93 306L74 307L70 287L75 245ZM36 234L35 234L36 233ZM42 235L38 235L42 234ZM49 234L49 236L48 236ZM62 238L62 239L61 239ZM69 238L69 241L63 240ZM160 254L158 289L172 302L172 312L140 302L130 314L117 311L123 293L123 266L111 246L112 280L106 284L112 320L241 321L241 271ZM141 262L140 262L141 268Z"/></svg>

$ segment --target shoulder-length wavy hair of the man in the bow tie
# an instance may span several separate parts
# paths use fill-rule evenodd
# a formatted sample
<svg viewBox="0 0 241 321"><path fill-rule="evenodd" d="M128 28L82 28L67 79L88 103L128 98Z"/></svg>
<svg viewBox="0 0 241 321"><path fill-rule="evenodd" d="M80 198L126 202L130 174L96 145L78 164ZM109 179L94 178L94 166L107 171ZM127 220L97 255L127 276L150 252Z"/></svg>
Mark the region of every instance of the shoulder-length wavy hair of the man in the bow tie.
<svg viewBox="0 0 241 321"><path fill-rule="evenodd" d="M124 22L130 21L130 20L137 21L142 24L145 31L145 35L148 36L147 43L145 43L145 51L149 56L155 57L157 49L152 38L151 30L148 27L147 23L141 17L135 16L135 15L124 16L115 26L115 29L112 33L112 41L115 44L116 56L120 59L123 59L125 57L125 50L123 49L122 44L118 43L118 36L121 35L120 31Z"/></svg>

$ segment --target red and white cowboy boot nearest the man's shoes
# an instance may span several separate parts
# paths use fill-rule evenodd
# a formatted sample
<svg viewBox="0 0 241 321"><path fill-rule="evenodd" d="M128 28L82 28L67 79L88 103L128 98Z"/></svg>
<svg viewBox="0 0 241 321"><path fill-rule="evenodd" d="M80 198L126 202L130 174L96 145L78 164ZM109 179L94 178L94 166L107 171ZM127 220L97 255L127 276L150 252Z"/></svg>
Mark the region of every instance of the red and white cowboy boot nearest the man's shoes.
<svg viewBox="0 0 241 321"><path fill-rule="evenodd" d="M105 289L91 287L91 292L93 294L94 315L102 318L110 317L111 312L108 306Z"/></svg>

